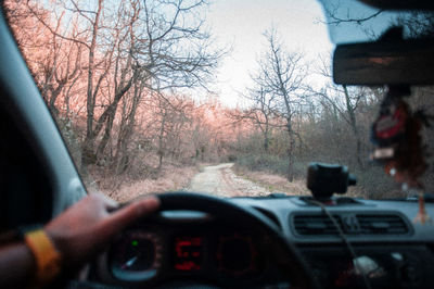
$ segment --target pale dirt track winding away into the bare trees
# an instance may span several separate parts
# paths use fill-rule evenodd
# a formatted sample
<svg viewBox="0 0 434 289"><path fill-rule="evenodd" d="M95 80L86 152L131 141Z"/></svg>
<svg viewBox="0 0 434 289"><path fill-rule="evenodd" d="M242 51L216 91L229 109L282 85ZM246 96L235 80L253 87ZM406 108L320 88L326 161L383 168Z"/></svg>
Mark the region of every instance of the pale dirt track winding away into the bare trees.
<svg viewBox="0 0 434 289"><path fill-rule="evenodd" d="M270 193L265 188L237 176L231 169L233 163L205 166L202 173L193 177L188 190L219 197Z"/></svg>

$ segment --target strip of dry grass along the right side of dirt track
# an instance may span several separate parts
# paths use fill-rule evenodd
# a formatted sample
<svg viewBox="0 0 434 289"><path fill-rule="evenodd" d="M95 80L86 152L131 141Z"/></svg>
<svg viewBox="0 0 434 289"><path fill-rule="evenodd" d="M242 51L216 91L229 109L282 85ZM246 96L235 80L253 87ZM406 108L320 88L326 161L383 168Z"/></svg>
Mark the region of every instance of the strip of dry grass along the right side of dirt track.
<svg viewBox="0 0 434 289"><path fill-rule="evenodd" d="M283 176L267 172L252 172L238 165L234 166L234 171L237 175L252 180L271 192L283 192L292 196L310 194L309 190L306 188L305 179L295 179L290 183Z"/></svg>

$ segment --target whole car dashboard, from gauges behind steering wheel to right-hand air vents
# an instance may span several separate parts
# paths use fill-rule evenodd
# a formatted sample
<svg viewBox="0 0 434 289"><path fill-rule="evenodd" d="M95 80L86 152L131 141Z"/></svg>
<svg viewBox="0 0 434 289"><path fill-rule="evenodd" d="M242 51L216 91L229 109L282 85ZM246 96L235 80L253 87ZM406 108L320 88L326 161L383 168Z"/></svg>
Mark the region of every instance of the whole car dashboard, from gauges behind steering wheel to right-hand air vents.
<svg viewBox="0 0 434 289"><path fill-rule="evenodd" d="M306 198L228 200L273 222L322 288L433 284L434 225L412 222L417 202L340 198L324 213ZM433 209L426 204L429 213ZM196 211L165 211L123 231L99 259L92 278L122 287L291 288L267 242L267 236L237 222Z"/></svg>

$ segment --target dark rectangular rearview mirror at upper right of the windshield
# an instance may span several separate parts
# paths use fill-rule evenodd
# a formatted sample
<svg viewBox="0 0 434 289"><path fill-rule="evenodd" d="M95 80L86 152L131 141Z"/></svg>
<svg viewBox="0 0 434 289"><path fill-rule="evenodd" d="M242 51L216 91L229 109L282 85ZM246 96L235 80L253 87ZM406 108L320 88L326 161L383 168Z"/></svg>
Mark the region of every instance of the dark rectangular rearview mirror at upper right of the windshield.
<svg viewBox="0 0 434 289"><path fill-rule="evenodd" d="M333 55L333 79L339 85L433 85L434 41L339 45Z"/></svg>

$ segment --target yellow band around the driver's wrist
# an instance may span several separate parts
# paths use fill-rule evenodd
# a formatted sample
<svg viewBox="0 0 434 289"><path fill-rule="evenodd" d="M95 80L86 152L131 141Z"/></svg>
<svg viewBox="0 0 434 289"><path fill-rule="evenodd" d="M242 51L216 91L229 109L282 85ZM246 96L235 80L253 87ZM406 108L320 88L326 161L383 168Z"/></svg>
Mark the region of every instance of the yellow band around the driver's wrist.
<svg viewBox="0 0 434 289"><path fill-rule="evenodd" d="M37 286L53 280L61 272L61 254L42 229L26 233L26 244L35 256Z"/></svg>

